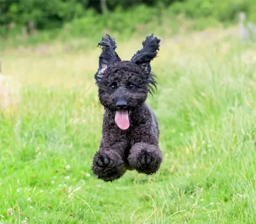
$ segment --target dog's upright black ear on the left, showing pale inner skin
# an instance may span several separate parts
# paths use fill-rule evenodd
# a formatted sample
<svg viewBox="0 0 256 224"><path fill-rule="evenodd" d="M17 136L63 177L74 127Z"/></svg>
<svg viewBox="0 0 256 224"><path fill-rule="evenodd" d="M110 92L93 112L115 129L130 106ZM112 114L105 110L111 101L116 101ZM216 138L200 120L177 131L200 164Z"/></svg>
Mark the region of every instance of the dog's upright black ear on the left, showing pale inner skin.
<svg viewBox="0 0 256 224"><path fill-rule="evenodd" d="M102 53L99 57L99 69L97 73L94 75L97 84L99 84L104 71L111 64L121 61L120 57L115 52L115 39L111 38L109 34L106 34L106 36L102 37L102 40L98 44L98 47L101 47Z"/></svg>

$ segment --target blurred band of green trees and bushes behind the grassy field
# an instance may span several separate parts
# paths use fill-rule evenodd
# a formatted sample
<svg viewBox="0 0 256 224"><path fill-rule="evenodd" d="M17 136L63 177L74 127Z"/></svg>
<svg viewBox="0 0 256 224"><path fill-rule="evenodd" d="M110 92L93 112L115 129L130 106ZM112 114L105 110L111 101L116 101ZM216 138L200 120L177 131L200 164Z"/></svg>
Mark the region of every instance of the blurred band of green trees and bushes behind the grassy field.
<svg viewBox="0 0 256 224"><path fill-rule="evenodd" d="M141 26L154 28L177 15L197 19L193 28L203 29L234 22L239 11L255 21L255 0L0 0L0 34L8 38L49 31L51 39L56 36L52 31L61 29L63 36L90 37L104 30L131 36Z"/></svg>

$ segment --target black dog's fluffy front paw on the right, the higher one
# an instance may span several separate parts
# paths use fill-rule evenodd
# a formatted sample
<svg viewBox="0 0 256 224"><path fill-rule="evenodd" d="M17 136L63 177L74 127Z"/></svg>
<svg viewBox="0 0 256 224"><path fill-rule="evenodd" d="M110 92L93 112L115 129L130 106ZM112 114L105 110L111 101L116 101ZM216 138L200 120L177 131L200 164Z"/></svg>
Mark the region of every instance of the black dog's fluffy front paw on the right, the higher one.
<svg viewBox="0 0 256 224"><path fill-rule="evenodd" d="M144 142L134 144L128 156L131 168L148 175L157 172L162 160L163 156L159 147Z"/></svg>

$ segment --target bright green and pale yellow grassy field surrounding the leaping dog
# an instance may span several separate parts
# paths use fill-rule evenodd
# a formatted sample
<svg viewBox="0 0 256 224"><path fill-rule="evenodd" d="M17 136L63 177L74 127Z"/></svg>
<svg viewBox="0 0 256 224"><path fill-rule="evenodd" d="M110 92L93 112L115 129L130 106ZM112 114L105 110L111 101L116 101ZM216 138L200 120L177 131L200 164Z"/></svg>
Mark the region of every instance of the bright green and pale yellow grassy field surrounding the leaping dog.
<svg viewBox="0 0 256 224"><path fill-rule="evenodd" d="M164 161L113 183L90 171L100 49L73 40L0 52L3 73L22 84L20 105L0 114L0 223L256 223L256 46L237 33L160 36L147 102ZM117 39L120 57L144 38Z"/></svg>

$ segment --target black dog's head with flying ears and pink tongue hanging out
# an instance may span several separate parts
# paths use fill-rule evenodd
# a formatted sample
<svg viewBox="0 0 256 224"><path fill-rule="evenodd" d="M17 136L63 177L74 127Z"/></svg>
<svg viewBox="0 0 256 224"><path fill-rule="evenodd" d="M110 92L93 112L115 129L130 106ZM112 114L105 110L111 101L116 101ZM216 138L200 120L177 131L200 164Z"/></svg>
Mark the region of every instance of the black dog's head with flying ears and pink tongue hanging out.
<svg viewBox="0 0 256 224"><path fill-rule="evenodd" d="M116 112L115 121L119 128L129 128L129 112L140 107L147 99L156 80L151 73L150 61L157 56L160 40L151 34L142 42L131 61L122 61L116 54L116 43L108 34L102 38L99 46L99 69L95 74L99 87L100 103Z"/></svg>

